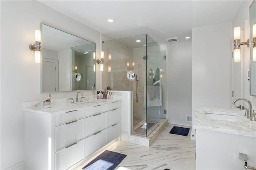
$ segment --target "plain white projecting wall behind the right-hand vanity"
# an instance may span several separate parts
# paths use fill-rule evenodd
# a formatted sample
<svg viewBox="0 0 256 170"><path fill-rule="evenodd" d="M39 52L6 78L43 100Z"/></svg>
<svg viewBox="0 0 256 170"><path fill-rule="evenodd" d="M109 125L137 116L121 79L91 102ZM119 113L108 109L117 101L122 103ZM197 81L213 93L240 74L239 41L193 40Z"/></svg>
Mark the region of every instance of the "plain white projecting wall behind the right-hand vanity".
<svg viewBox="0 0 256 170"><path fill-rule="evenodd" d="M192 125L196 107L230 108L231 40L231 22L192 29Z"/></svg>

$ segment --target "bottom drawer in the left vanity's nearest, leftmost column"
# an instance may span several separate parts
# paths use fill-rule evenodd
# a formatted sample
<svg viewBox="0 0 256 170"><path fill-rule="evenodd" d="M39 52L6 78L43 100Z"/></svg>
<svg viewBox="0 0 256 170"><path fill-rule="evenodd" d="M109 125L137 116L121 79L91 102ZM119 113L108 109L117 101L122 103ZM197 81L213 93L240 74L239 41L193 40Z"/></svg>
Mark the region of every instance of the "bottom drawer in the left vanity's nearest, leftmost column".
<svg viewBox="0 0 256 170"><path fill-rule="evenodd" d="M55 153L55 170L66 170L84 159L84 140Z"/></svg>

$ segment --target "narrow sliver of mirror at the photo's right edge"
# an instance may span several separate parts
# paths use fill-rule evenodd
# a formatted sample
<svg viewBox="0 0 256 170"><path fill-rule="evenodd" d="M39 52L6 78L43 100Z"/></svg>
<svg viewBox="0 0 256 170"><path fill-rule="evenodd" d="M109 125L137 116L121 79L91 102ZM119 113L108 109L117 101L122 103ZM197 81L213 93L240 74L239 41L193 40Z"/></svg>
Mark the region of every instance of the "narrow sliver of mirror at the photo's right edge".
<svg viewBox="0 0 256 170"><path fill-rule="evenodd" d="M250 95L256 96L256 2L250 6Z"/></svg>

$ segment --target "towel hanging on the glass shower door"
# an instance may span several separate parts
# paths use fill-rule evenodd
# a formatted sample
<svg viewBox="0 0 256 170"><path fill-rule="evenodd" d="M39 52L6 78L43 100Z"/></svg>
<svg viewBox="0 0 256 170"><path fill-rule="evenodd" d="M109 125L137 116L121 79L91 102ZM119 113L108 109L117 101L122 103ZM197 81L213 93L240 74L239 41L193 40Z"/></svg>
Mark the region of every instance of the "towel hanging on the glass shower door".
<svg viewBox="0 0 256 170"><path fill-rule="evenodd" d="M162 106L162 86L148 85L144 88L144 105Z"/></svg>

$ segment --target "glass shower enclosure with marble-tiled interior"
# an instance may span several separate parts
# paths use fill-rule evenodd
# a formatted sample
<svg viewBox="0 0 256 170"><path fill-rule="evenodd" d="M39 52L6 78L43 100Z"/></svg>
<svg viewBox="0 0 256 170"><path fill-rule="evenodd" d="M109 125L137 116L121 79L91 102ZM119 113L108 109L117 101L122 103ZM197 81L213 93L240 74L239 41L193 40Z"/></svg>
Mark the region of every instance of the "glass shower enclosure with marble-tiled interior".
<svg viewBox="0 0 256 170"><path fill-rule="evenodd" d="M149 136L166 118L166 52L147 34L104 41L102 49L102 88L133 92L131 132Z"/></svg>

